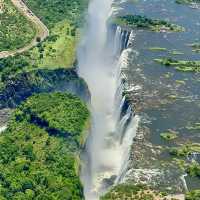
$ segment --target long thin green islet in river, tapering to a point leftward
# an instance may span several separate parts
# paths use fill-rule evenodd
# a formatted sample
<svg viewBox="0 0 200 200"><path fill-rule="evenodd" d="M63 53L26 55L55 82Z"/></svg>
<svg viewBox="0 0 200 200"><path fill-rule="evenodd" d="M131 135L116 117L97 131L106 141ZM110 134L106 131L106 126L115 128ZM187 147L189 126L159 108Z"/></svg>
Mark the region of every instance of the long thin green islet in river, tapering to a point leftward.
<svg viewBox="0 0 200 200"><path fill-rule="evenodd" d="M200 71L200 61L175 60L172 58L154 59L154 61L165 66L173 66L176 70L182 72Z"/></svg>

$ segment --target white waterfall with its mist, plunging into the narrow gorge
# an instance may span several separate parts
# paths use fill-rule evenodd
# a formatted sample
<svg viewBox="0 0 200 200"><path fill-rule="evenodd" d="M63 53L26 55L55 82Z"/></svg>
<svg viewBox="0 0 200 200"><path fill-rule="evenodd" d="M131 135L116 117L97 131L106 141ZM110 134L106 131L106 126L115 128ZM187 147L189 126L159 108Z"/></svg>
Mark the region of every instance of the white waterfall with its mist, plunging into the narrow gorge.
<svg viewBox="0 0 200 200"><path fill-rule="evenodd" d="M91 0L87 30L78 49L78 72L91 92L92 127L81 172L86 200L98 200L125 173L139 120L131 106L125 106L123 96L123 69L130 51L126 48L134 37L116 27L114 39L108 40L111 5L112 0Z"/></svg>

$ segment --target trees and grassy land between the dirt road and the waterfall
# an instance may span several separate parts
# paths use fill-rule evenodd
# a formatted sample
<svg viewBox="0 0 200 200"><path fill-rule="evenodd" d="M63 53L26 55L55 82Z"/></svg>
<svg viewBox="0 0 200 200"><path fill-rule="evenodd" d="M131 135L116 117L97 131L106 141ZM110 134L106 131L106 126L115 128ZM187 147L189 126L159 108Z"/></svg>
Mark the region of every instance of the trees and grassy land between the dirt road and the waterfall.
<svg viewBox="0 0 200 200"><path fill-rule="evenodd" d="M25 2L50 30L47 40L30 52L31 61L39 67L71 67L88 0Z"/></svg>

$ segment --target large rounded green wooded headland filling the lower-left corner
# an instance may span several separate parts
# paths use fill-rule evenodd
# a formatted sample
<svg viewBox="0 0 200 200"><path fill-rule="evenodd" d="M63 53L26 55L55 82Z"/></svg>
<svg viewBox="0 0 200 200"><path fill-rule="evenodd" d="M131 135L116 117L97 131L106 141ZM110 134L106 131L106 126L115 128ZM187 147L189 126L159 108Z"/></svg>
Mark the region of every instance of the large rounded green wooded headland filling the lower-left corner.
<svg viewBox="0 0 200 200"><path fill-rule="evenodd" d="M83 199L79 151L89 122L71 94L30 97L0 135L0 199Z"/></svg>

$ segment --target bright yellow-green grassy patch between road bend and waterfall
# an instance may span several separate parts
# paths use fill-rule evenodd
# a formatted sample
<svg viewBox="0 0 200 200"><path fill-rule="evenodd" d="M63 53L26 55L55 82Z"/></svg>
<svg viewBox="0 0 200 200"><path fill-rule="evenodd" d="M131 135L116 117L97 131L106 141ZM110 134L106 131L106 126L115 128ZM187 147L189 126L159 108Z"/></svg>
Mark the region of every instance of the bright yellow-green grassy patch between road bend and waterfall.
<svg viewBox="0 0 200 200"><path fill-rule="evenodd" d="M73 66L75 61L76 29L67 20L51 29L51 36L31 51L31 60L40 68Z"/></svg>

